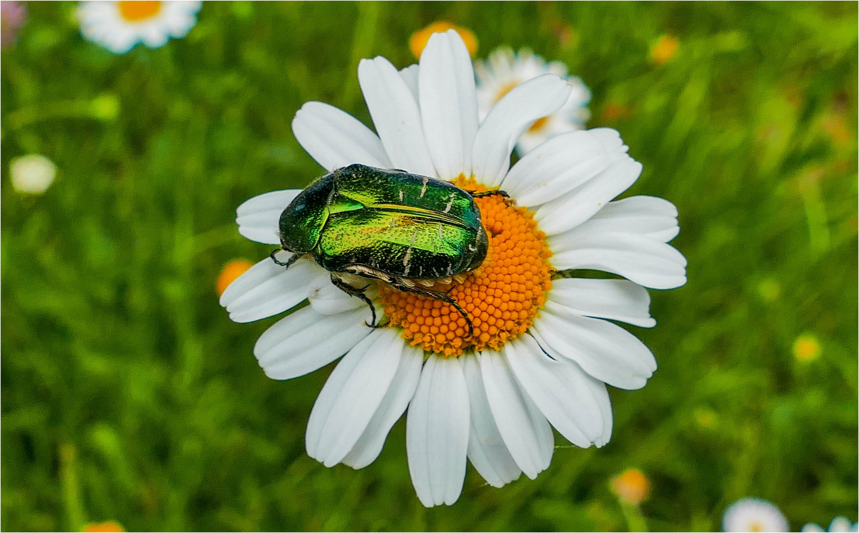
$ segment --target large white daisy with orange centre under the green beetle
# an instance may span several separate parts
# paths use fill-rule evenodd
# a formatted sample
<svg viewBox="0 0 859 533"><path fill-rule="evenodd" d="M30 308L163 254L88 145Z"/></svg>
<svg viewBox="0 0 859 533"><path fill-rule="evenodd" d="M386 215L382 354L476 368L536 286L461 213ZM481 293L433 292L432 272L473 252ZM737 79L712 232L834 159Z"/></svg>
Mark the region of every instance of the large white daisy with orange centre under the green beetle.
<svg viewBox="0 0 859 533"><path fill-rule="evenodd" d="M308 455L326 466L367 466L407 407L411 481L423 505L436 506L459 498L466 457L493 487L523 472L536 477L554 451L551 426L575 445L605 445L606 384L637 389L656 368L643 342L609 320L652 327L644 287L685 283L685 258L667 245L679 232L677 210L656 197L611 202L642 169L615 130L556 136L509 167L516 140L564 106L570 85L539 76L481 121L472 62L453 30L432 35L419 64L403 70L363 59L358 80L378 136L322 102L295 114L295 138L327 171L399 168L471 191L500 186L513 201L475 198L489 252L448 293L472 318L470 337L452 306L382 282L370 297L389 327L370 329L366 304L308 258L284 269L266 257L224 291L221 304L236 322L309 300L256 343L269 377L295 378L345 354L310 414ZM279 217L299 192L242 203L239 232L280 244ZM552 279L570 269L627 279Z"/></svg>

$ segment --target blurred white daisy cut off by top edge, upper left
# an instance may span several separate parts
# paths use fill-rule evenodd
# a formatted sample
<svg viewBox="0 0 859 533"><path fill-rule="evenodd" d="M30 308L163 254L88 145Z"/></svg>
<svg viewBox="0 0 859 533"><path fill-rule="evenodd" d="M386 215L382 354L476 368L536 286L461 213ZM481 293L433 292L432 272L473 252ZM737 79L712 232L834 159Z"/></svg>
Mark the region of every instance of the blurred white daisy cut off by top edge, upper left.
<svg viewBox="0 0 859 533"><path fill-rule="evenodd" d="M137 43L149 48L185 37L197 23L201 2L133 0L82 2L78 8L81 33L113 53L124 54Z"/></svg>

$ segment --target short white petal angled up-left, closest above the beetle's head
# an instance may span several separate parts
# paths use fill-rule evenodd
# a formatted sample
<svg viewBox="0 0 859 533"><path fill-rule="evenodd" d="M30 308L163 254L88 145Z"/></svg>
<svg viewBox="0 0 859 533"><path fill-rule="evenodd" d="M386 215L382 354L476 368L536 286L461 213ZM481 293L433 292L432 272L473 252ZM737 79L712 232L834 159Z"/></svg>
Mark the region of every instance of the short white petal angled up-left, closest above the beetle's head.
<svg viewBox="0 0 859 533"><path fill-rule="evenodd" d="M326 170L362 163L391 167L379 137L360 120L337 107L308 102L292 119L295 139Z"/></svg>

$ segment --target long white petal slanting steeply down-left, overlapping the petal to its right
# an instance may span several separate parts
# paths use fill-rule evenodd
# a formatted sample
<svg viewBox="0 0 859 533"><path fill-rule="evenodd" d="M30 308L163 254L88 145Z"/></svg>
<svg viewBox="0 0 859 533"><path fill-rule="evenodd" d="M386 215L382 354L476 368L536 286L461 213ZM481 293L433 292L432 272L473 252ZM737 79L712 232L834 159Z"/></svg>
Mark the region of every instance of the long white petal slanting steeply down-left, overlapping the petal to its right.
<svg viewBox="0 0 859 533"><path fill-rule="evenodd" d="M374 330L338 363L310 412L310 457L328 467L346 457L393 382L403 346L396 330Z"/></svg>

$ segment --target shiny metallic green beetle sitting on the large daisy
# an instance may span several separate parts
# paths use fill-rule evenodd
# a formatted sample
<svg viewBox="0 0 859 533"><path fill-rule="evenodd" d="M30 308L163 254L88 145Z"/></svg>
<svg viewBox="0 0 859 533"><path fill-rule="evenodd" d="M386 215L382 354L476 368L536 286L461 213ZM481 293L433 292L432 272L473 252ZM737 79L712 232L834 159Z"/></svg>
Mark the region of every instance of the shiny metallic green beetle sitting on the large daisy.
<svg viewBox="0 0 859 533"><path fill-rule="evenodd" d="M327 173L302 191L280 216L283 250L313 257L344 292L370 304L368 287L352 287L354 275L389 283L400 291L442 300L471 319L448 294L427 286L474 270L489 239L471 193L441 179L354 164ZM506 196L506 195L505 195ZM373 309L373 306L370 305ZM375 310L373 311L375 325Z"/></svg>

